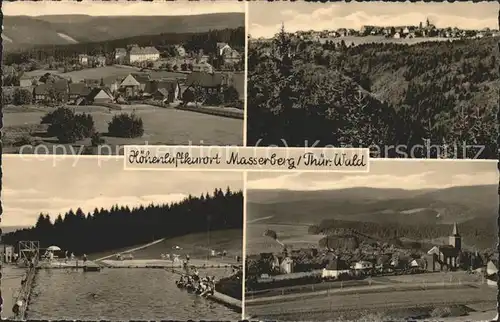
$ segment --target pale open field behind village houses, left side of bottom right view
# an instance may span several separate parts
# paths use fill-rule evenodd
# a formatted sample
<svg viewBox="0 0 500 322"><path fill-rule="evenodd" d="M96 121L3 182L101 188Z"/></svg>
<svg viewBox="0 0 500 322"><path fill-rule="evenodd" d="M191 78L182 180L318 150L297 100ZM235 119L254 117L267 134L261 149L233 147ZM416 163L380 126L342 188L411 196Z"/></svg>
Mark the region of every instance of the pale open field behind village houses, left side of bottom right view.
<svg viewBox="0 0 500 322"><path fill-rule="evenodd" d="M282 246L279 243L270 237L264 236L267 229L274 230L279 241L292 249L318 247L319 240L324 237L309 234L306 225L247 223L248 255L262 252L279 253L282 251Z"/></svg>

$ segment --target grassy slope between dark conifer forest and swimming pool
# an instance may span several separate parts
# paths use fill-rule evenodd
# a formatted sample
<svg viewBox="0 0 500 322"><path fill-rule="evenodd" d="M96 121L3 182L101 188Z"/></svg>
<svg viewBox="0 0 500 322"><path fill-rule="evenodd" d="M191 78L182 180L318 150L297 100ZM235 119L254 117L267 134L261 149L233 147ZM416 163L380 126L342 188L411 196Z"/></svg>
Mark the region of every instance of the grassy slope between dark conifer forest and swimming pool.
<svg viewBox="0 0 500 322"><path fill-rule="evenodd" d="M179 246L181 249L173 249L175 246ZM89 259L102 258L115 253L124 252L131 248L134 247L91 254ZM161 259L161 254L172 253L181 256L189 254L193 259L206 259L211 249L217 252L227 251L226 262L233 262L236 256L242 256L243 231L239 229L220 230L210 232L210 234L190 234L170 238L152 246L134 251L132 254L134 259L143 260Z"/></svg>

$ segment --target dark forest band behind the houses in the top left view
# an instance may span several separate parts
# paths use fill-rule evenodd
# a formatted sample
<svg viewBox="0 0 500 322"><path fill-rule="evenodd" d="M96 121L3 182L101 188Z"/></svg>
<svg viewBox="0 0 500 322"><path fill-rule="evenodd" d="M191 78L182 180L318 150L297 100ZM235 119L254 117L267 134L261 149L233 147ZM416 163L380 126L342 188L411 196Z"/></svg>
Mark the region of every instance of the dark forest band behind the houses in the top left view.
<svg viewBox="0 0 500 322"><path fill-rule="evenodd" d="M201 49L206 54L215 54L217 42L226 42L232 48L244 51L245 28L210 30L203 33L164 33L101 42L39 46L6 52L3 61L5 65L25 64L32 59L39 62L45 62L48 59L64 61L77 57L79 54L104 55L109 59L114 59L115 48L126 48L131 44L155 46L164 54L172 52L174 45L183 45L187 52L198 52Z"/></svg>

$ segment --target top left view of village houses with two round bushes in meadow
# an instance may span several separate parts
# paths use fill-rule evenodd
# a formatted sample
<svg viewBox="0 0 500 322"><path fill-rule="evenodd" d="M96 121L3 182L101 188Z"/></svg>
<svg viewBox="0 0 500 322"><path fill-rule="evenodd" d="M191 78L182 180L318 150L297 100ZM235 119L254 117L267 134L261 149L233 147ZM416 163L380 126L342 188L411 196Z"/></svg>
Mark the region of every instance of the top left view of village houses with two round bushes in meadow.
<svg viewBox="0 0 500 322"><path fill-rule="evenodd" d="M8 2L3 153L244 145L245 3Z"/></svg>

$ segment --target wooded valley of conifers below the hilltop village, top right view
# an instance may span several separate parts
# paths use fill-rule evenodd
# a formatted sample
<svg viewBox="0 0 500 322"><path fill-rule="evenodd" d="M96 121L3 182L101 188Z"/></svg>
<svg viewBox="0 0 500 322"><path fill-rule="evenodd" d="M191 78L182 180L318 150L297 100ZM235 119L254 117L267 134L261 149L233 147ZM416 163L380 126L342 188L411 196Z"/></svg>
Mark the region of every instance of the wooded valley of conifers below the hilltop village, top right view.
<svg viewBox="0 0 500 322"><path fill-rule="evenodd" d="M282 28L252 40L248 143L496 159L497 38L348 46Z"/></svg>

